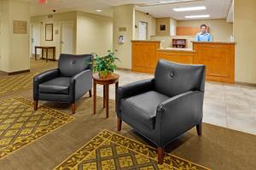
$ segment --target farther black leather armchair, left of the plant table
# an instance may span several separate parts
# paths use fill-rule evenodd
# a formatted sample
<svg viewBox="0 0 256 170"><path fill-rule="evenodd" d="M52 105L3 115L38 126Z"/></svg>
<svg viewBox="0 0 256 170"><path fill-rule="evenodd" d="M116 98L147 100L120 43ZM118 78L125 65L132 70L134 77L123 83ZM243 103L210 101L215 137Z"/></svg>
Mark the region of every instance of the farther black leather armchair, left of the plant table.
<svg viewBox="0 0 256 170"><path fill-rule="evenodd" d="M45 71L33 78L34 110L38 100L67 102L75 113L75 101L92 88L91 54L61 54L58 68Z"/></svg>

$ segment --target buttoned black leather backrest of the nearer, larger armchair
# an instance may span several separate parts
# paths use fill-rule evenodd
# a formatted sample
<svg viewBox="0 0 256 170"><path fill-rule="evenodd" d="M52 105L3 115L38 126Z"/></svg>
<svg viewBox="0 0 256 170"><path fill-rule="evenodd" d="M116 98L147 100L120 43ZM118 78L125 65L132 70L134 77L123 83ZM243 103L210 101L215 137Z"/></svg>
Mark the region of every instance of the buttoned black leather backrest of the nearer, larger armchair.
<svg viewBox="0 0 256 170"><path fill-rule="evenodd" d="M182 65L160 59L154 72L154 88L170 97L190 90L204 91L205 65Z"/></svg>

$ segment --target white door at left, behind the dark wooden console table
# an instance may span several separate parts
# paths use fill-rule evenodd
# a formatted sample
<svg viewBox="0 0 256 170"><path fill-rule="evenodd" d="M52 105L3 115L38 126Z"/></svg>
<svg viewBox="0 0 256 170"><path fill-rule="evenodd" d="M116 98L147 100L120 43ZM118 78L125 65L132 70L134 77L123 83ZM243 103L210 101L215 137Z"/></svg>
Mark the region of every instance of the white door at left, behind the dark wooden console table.
<svg viewBox="0 0 256 170"><path fill-rule="evenodd" d="M31 25L31 53L30 54L35 54L35 46L40 46L40 24L32 24ZM37 54L40 54L41 51L38 50ZM31 56L32 57L32 56Z"/></svg>

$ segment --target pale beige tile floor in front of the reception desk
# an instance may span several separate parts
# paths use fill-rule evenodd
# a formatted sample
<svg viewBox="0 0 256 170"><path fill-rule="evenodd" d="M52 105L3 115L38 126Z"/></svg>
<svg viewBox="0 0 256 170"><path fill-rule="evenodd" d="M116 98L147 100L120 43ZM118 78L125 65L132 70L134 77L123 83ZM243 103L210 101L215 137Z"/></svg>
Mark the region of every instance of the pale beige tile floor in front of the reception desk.
<svg viewBox="0 0 256 170"><path fill-rule="evenodd" d="M119 86L153 77L131 71L116 73L120 76ZM98 85L97 95L102 96L102 92L102 86ZM114 85L111 85L110 99L114 99L114 92ZM203 111L203 122L256 134L256 87L206 82Z"/></svg>

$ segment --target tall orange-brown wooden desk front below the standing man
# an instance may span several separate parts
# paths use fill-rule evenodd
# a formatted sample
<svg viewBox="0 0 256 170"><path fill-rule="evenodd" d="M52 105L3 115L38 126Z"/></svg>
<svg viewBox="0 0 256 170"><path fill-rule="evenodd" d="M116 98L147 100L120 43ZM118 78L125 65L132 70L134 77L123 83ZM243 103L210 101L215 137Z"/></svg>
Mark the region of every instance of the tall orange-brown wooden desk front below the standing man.
<svg viewBox="0 0 256 170"><path fill-rule="evenodd" d="M194 42L194 64L206 65L207 80L235 82L234 44Z"/></svg>

